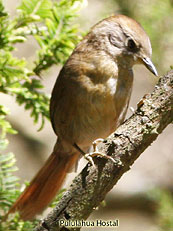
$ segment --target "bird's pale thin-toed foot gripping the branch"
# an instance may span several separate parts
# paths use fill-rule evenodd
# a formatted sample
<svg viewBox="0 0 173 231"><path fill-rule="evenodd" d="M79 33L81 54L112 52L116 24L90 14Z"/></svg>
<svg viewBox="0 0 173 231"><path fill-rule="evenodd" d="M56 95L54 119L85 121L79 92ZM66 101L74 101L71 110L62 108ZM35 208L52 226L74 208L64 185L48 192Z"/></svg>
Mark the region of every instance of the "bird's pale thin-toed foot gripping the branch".
<svg viewBox="0 0 173 231"><path fill-rule="evenodd" d="M84 155L84 158L92 165L95 167L95 164L94 164L94 161L93 161L93 157L101 157L101 158L104 158L104 159L107 159L107 160L111 160L113 163L116 163L116 161L111 157L111 156L108 156L106 155L105 153L102 153L98 150L97 148L97 145L99 143L102 143L104 140L99 138L97 140L95 140L93 142L93 152L90 152L90 153L87 153Z"/></svg>

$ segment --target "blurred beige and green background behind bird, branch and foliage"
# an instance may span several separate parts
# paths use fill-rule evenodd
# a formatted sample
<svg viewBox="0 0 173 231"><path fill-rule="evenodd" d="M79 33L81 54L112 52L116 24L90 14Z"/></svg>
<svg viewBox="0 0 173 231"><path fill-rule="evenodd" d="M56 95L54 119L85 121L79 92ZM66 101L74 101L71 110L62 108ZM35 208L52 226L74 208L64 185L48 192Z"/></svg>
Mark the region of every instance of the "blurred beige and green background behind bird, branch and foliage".
<svg viewBox="0 0 173 231"><path fill-rule="evenodd" d="M15 15L19 2L20 0L4 1L11 17ZM170 70L170 66L173 65L173 1L88 0L88 6L80 12L77 23L80 24L82 31L88 31L93 24L112 14L125 14L140 22L151 39L152 60L159 75ZM15 55L25 57L32 62L36 49L37 45L31 39L24 45L19 44ZM60 68L60 66L54 66L42 74L45 91L49 94ZM144 94L153 90L158 79L142 66L134 67L134 75L130 107L136 109L137 102ZM16 174L22 182L30 180L51 153L56 136L48 121L44 129L38 132L39 125L33 124L30 113L26 112L23 107L19 107L12 97L1 95L0 103L10 108L9 120L13 127L19 131L17 135L9 136L10 144L8 146L9 151L13 151L17 158L19 171ZM132 112L129 110L127 117L131 114ZM168 207L169 203L172 203L172 200L166 200L169 192L173 192L172 132L172 125L170 125L138 158L131 170L123 175L105 198L106 206L96 209L90 216L90 220L119 219L119 227L116 228L118 231L163 230L162 223L164 221L160 216L162 210L158 200L163 201L164 205ZM84 165L85 161L82 159L77 171L79 172ZM68 187L76 174L69 174L64 187ZM164 219L166 219L165 217ZM115 228L106 227L103 229L115 230ZM83 228L83 230L88 229ZM95 227L92 230L101 230L101 228Z"/></svg>

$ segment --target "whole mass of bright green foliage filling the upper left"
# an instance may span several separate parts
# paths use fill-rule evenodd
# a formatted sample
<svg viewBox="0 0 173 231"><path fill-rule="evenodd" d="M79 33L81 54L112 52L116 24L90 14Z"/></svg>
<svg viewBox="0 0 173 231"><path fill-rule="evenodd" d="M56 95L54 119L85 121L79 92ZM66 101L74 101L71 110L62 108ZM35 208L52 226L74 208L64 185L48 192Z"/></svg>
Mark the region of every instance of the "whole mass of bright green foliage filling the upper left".
<svg viewBox="0 0 173 231"><path fill-rule="evenodd" d="M43 85L36 75L53 64L64 63L80 36L72 25L83 1L23 0L19 15L10 21L0 1L0 92L16 97L16 101L31 110L35 122L49 118L49 97L40 89ZM78 4L76 4L78 3ZM40 46L33 69L24 59L12 55L14 44L26 42L33 36Z"/></svg>

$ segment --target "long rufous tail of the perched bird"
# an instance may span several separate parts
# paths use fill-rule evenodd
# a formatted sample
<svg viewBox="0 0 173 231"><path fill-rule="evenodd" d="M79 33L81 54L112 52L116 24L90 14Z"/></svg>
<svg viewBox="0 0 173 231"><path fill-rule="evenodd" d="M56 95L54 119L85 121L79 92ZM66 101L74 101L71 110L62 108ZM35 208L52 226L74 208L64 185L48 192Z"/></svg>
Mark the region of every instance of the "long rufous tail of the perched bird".
<svg viewBox="0 0 173 231"><path fill-rule="evenodd" d="M31 220L41 213L55 197L67 172L77 159L78 153L69 155L69 153L54 150L30 185L10 208L8 214L19 211L23 220Z"/></svg>

